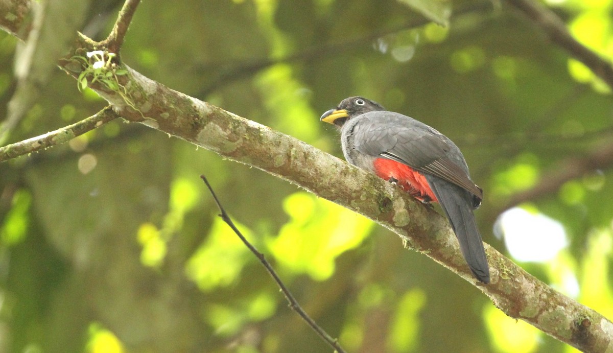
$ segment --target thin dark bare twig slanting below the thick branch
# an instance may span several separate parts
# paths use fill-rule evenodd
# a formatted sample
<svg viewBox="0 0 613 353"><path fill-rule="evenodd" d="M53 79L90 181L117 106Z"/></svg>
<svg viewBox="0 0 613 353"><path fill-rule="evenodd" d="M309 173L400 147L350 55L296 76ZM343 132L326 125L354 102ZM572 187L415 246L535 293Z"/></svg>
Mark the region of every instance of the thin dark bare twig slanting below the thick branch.
<svg viewBox="0 0 613 353"><path fill-rule="evenodd" d="M217 195L215 195L215 192L213 191L211 184L208 183L207 178L204 175L200 175L200 178L202 178L205 184L207 184L208 191L211 192L211 195L213 195L213 199L215 199L215 203L217 203L217 207L219 207L219 211L221 212L221 214L219 214L219 217L221 217L221 219L223 219L224 222L226 222L227 225L230 226L232 230L234 230L234 233L238 235L238 238L240 238L240 240L243 241L243 243L245 243L247 248L249 248L249 250L251 250L251 252L253 252L253 254L257 257L257 259L260 260L262 265L264 265L264 268L266 268L266 271L268 271L268 274L270 274L270 276L275 280L276 285L279 286L279 288L281 289L281 292L283 292L283 295L285 295L287 302L289 302L289 307L292 308L292 310L294 310L297 314L299 314L300 317L302 317L302 319L306 321L307 324L311 328L313 328L313 330L322 338L322 340L326 341L326 343L329 344L338 353L345 353L345 350L343 349L343 347L340 346L338 341L332 338L332 336L328 335L328 333L324 331L323 328L319 327L319 325L316 324L316 322L313 321L313 319L311 319L311 317L308 316L307 313L305 313L305 311L302 309L299 303L295 300L294 295L292 295L289 289L287 289L287 287L285 286L285 284L283 284L283 281L281 281L281 278L279 278L279 276L276 274L275 270L272 268L270 263L264 258L264 254L257 251L256 247L251 245L251 243L249 243L249 241L246 240L246 238L243 236L240 230L238 230L238 228L234 225L234 222L232 222L232 219L230 219L230 216L228 216L228 214L226 213L226 210L224 210L223 206L221 205L221 202L219 202Z"/></svg>

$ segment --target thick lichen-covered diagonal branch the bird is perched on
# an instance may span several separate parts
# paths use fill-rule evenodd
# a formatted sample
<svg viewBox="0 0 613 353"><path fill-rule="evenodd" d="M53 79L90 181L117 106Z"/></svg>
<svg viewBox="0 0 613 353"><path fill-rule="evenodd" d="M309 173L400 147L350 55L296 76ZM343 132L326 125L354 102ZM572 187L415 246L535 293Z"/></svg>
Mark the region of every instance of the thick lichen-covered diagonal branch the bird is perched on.
<svg viewBox="0 0 613 353"><path fill-rule="evenodd" d="M551 289L489 245L485 251L491 283L476 283L446 219L408 193L307 143L169 89L128 66L122 69L128 74L118 78L133 98L129 104L123 99L126 93L104 86L92 88L112 102L115 112L126 120L264 170L364 214L400 235L410 248L478 287L504 313L577 349L603 352L613 342L611 321ZM69 74L78 77L77 73Z"/></svg>

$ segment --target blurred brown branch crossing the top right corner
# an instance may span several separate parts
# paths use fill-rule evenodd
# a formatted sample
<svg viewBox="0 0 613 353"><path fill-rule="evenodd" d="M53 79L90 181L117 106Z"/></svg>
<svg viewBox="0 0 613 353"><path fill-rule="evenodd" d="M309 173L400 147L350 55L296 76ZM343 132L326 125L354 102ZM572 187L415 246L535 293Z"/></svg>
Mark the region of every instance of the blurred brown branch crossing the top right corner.
<svg viewBox="0 0 613 353"><path fill-rule="evenodd" d="M566 29L565 23L547 7L532 0L507 0L509 4L524 12L535 25L547 34L547 37L564 48L571 56L589 67L613 89L613 66L594 51L579 43Z"/></svg>

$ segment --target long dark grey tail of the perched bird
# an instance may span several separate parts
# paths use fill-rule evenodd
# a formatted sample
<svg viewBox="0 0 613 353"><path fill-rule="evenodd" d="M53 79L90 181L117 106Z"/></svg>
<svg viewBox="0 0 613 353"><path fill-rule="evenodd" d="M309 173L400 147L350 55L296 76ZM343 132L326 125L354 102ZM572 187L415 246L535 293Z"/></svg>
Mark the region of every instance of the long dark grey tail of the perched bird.
<svg viewBox="0 0 613 353"><path fill-rule="evenodd" d="M460 251L468 267L479 281L489 283L490 269L487 265L487 257L485 257L477 222L474 219L470 192L444 180L433 180L436 177L427 176L426 178L454 229L455 236L460 243Z"/></svg>

